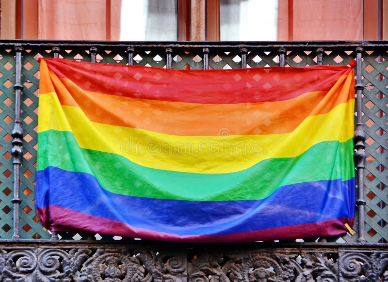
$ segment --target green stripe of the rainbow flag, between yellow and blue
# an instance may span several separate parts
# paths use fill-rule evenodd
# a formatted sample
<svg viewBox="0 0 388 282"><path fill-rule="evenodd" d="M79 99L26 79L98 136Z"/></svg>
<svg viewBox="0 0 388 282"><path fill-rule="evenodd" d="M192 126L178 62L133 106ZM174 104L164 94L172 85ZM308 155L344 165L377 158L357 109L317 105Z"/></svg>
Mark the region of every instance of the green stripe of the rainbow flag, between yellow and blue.
<svg viewBox="0 0 388 282"><path fill-rule="evenodd" d="M353 139L324 141L293 158L266 159L231 173L147 168L119 155L81 149L68 131L38 134L37 170L48 166L94 175L106 190L147 198L191 201L258 200L285 185L354 177Z"/></svg>

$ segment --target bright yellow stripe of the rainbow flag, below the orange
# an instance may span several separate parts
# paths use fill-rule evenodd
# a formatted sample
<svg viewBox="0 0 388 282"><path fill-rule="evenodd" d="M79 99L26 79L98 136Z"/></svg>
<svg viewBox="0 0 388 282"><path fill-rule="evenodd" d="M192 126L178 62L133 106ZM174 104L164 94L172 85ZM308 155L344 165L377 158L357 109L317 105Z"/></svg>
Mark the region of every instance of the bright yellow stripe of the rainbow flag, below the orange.
<svg viewBox="0 0 388 282"><path fill-rule="evenodd" d="M268 158L296 157L322 141L347 141L354 134L353 113L352 99L326 114L307 117L291 133L177 136L91 122L80 108L61 106L56 95L43 95L39 98L38 132L71 131L82 148L122 155L150 168L226 173Z"/></svg>

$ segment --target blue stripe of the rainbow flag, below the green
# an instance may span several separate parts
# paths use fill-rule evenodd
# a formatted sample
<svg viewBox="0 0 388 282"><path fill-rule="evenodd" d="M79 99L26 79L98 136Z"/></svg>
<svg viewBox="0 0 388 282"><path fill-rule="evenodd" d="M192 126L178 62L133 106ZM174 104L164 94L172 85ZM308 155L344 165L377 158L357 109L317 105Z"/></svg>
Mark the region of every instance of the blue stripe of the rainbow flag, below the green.
<svg viewBox="0 0 388 282"><path fill-rule="evenodd" d="M262 200L211 202L114 194L102 188L91 174L55 167L36 172L36 178L37 208L58 205L177 235L222 235L351 219L355 212L354 178L283 186Z"/></svg>

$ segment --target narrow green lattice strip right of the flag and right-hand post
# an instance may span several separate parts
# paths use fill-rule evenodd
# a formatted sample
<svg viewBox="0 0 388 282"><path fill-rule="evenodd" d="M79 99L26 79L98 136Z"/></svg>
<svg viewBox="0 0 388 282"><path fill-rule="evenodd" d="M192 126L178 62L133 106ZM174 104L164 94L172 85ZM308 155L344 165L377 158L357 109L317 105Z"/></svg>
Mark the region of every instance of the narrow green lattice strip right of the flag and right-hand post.
<svg viewBox="0 0 388 282"><path fill-rule="evenodd" d="M365 231L369 242L387 242L388 233L388 53L363 56L364 122L367 134Z"/></svg>

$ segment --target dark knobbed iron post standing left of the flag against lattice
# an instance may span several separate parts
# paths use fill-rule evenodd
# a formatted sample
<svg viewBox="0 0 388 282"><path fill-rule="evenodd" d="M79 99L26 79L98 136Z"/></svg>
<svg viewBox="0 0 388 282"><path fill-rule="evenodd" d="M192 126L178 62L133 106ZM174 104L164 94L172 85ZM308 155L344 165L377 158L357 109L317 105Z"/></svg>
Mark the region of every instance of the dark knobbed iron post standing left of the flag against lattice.
<svg viewBox="0 0 388 282"><path fill-rule="evenodd" d="M14 235L12 239L20 239L19 235L19 208L20 208L20 166L21 166L21 157L23 156L23 128L21 127L20 119L20 96L23 91L23 84L21 84L21 52L22 47L16 45L14 48L16 52L16 67L15 67L15 120L14 128L12 129L12 150L11 155L13 157L12 164L14 165L14 198L12 199L12 204L14 207Z"/></svg>

